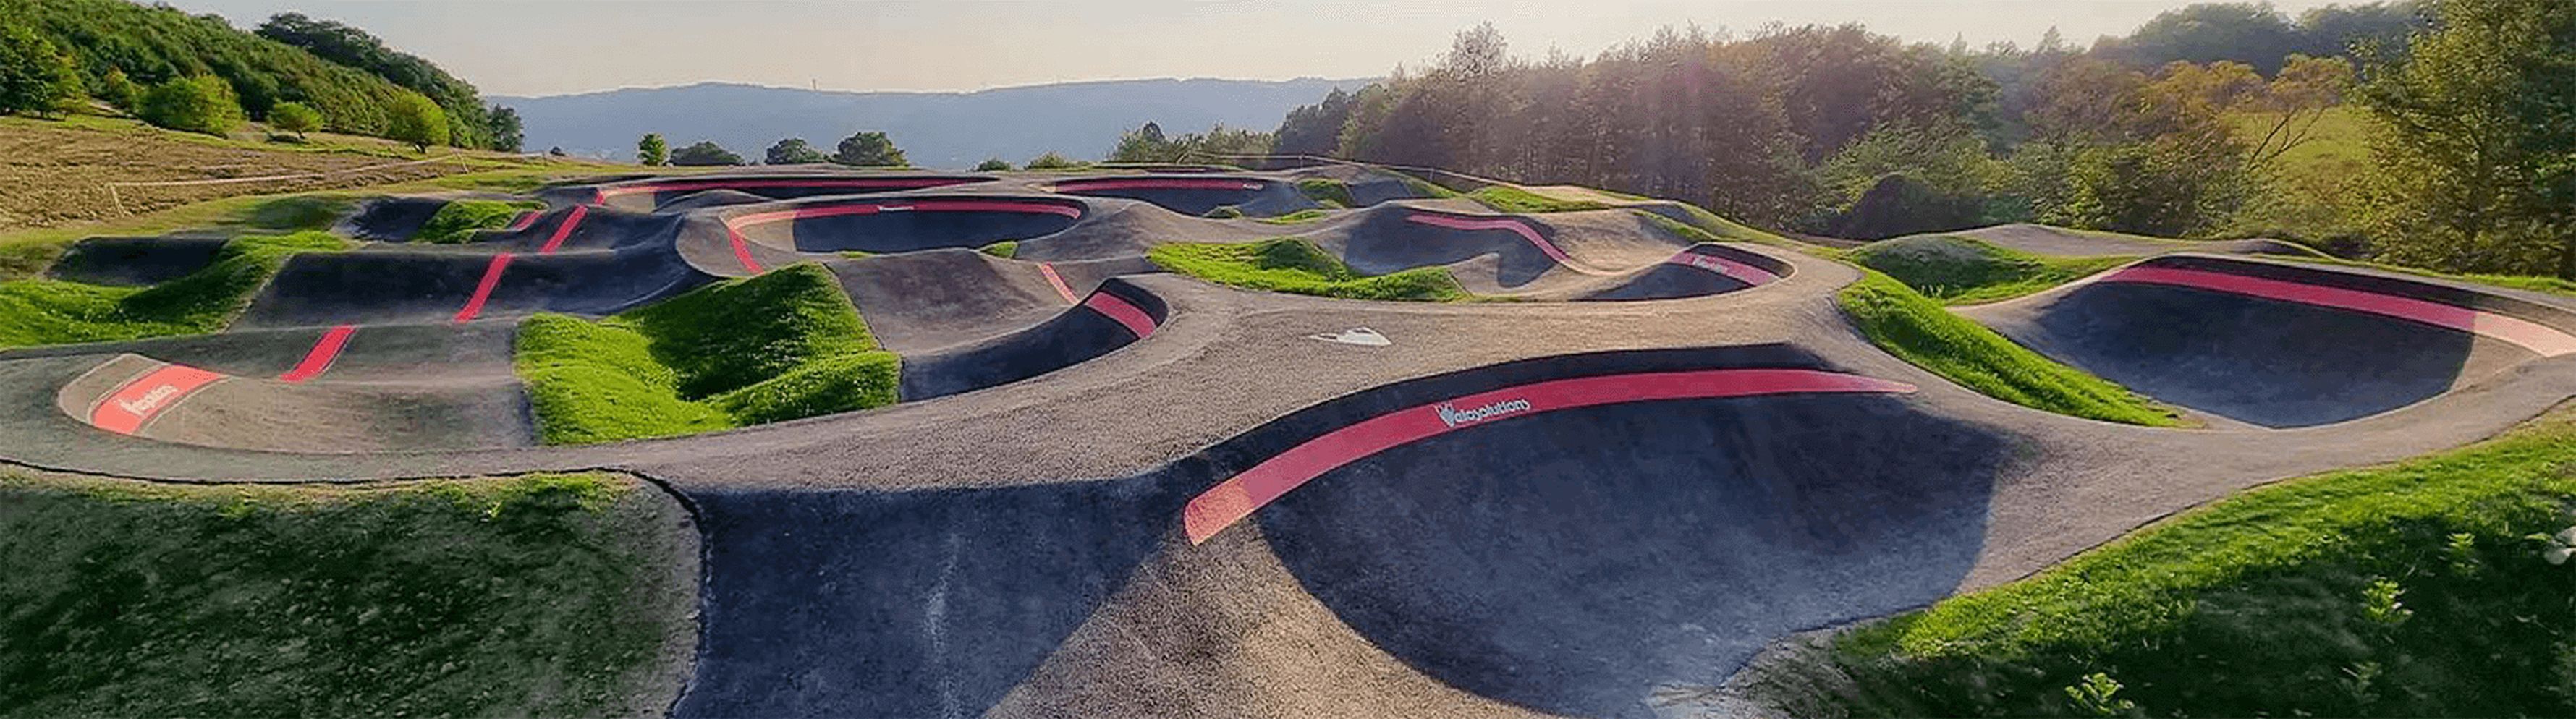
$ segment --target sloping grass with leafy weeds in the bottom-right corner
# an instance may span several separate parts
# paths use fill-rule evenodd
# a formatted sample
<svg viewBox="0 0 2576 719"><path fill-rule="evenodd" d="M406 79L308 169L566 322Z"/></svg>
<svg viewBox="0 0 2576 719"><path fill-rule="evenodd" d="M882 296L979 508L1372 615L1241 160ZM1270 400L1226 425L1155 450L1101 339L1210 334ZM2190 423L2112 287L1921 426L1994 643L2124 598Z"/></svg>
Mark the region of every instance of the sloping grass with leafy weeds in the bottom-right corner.
<svg viewBox="0 0 2576 719"><path fill-rule="evenodd" d="M2393 466L2244 492L2027 580L1839 637L1860 716L2576 714L2576 415ZM1816 714L1816 711L1806 711Z"/></svg>

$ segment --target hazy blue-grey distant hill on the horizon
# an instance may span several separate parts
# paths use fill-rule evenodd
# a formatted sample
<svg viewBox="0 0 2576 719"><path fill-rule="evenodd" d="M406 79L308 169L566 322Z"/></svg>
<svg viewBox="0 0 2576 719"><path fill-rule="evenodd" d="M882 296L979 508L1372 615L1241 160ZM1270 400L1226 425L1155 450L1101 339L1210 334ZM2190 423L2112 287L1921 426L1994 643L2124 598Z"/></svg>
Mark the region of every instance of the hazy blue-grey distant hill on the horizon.
<svg viewBox="0 0 2576 719"><path fill-rule="evenodd" d="M760 85L631 88L554 98L487 98L518 108L528 149L631 160L659 131L670 147L714 139L757 162L781 137L832 152L842 137L881 129L922 168L971 168L984 157L1028 162L1041 152L1103 157L1118 134L1157 121L1200 131L1224 121L1270 131L1288 108L1368 80L1105 80L976 93L822 93Z"/></svg>

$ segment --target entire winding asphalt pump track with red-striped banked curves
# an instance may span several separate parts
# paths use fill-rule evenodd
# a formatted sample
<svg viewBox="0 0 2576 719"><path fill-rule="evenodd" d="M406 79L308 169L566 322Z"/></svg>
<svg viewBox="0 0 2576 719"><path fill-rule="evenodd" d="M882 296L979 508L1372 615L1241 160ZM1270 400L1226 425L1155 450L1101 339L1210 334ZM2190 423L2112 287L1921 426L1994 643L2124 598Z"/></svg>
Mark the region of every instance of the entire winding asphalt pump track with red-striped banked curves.
<svg viewBox="0 0 2576 719"><path fill-rule="evenodd" d="M912 178L742 178L791 175ZM1847 265L1631 235L1625 209L1391 198L1257 224L1066 180L549 191L549 211L474 245L301 255L224 335L0 356L0 402L21 407L0 415L0 456L175 482L652 477L706 536L683 716L1659 716L1793 631L1996 585L2259 482L2460 446L2576 394L2566 307L2447 281L2169 255L1968 312L2208 417L2110 425L1873 348L1832 299ZM729 224L817 209L837 214ZM958 216L835 224L907 211ZM1069 222L1015 224L1041 216ZM1005 227L1043 235L1015 237L1015 258L969 250ZM1139 260L1278 235L1363 271L1631 302L1334 302ZM912 245L829 255L878 240ZM523 433L523 402L456 399L515 392L513 317L605 314L791 260L842 281L917 402L528 446L482 441ZM1667 278L1602 296L1649 273ZM1360 327L1383 343L1342 340ZM2210 371L2125 374L2125 353ZM325 389L340 394L304 397ZM474 428L348 430L402 423L343 410L340 446L258 441L309 430L278 412L397 392L451 405L392 417ZM147 412L113 417L121 402Z"/></svg>

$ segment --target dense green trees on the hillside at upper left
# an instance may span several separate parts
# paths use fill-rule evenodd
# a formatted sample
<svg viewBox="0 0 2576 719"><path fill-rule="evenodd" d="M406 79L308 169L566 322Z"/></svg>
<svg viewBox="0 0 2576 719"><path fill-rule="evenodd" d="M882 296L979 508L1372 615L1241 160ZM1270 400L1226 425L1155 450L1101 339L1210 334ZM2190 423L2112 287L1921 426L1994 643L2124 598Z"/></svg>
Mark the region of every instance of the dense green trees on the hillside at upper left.
<svg viewBox="0 0 2576 719"><path fill-rule="evenodd" d="M381 39L299 13L255 34L219 15L124 0L0 0L0 113L100 101L144 121L227 134L245 119L415 147L520 147L520 119ZM281 119L283 113L283 119Z"/></svg>

